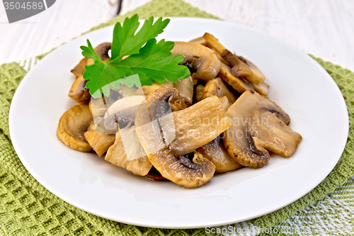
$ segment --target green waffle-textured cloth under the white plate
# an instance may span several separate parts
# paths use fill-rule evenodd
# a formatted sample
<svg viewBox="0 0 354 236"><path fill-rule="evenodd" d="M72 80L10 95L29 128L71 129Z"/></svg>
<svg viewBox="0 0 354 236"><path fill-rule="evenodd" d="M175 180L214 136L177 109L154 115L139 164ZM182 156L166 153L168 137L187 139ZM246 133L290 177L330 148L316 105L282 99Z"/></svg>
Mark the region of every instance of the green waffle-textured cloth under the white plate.
<svg viewBox="0 0 354 236"><path fill-rule="evenodd" d="M197 16L216 18L181 0L154 0L125 16L138 13L140 18L149 16ZM96 28L122 21L118 16ZM96 29L94 28L94 29ZM39 57L40 58L40 57ZM354 181L347 181L354 174L353 122L354 122L354 73L348 69L314 58L324 67L341 89L346 99L350 118L350 130L346 150L335 169L319 186L295 203L260 218L234 224L244 229L252 227L288 228L294 225L316 225L316 215L328 218L326 210L345 205L339 213L353 226ZM41 186L23 167L11 145L8 133L8 111L16 87L25 76L25 69L13 62L0 66L0 233L1 235L205 235L205 229L159 230L116 223L74 208ZM347 182L346 182L347 181ZM342 184L346 184L341 186ZM344 190L343 190L344 189ZM327 194L335 191L333 194ZM352 196L350 196L350 194ZM341 200L341 201L340 201ZM309 204L315 203L312 206ZM331 206L330 206L331 205ZM304 209L304 210L303 210ZM312 214L307 218L303 215ZM322 219L323 220L323 219ZM322 222L332 222L324 219ZM334 223L338 222L336 220ZM317 222L318 223L318 222ZM224 226L227 227L227 226ZM313 229L312 229L313 230ZM251 230L256 235L260 230Z"/></svg>

